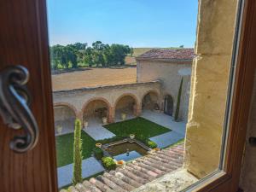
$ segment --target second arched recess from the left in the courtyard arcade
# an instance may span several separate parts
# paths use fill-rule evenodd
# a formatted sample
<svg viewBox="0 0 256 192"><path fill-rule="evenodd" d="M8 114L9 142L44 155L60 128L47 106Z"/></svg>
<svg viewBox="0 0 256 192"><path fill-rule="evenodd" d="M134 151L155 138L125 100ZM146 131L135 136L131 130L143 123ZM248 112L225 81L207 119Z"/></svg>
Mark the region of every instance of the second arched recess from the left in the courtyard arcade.
<svg viewBox="0 0 256 192"><path fill-rule="evenodd" d="M91 121L92 123L96 123L97 121L102 123L103 117L107 117L108 122L111 121L110 119L111 110L112 110L111 105L106 98L94 97L84 103L81 113L82 113L84 122Z"/></svg>

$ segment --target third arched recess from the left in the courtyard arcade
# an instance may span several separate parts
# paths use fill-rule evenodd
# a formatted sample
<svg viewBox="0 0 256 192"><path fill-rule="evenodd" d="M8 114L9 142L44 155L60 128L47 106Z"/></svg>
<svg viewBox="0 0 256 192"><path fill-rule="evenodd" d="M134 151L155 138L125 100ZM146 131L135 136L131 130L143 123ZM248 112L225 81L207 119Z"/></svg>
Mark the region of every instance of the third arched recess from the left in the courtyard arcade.
<svg viewBox="0 0 256 192"><path fill-rule="evenodd" d="M138 116L141 113L141 105L137 96L131 93L119 96L113 105L113 117L120 119L120 113Z"/></svg>

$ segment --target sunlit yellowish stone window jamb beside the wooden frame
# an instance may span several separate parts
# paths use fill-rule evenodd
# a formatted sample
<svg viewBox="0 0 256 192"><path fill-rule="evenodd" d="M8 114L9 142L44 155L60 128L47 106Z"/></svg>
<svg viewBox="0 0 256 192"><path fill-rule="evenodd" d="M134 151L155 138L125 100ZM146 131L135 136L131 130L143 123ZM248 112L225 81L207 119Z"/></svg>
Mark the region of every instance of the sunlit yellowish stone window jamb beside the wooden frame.
<svg viewBox="0 0 256 192"><path fill-rule="evenodd" d="M199 3L184 166L201 178L218 169L237 1Z"/></svg>

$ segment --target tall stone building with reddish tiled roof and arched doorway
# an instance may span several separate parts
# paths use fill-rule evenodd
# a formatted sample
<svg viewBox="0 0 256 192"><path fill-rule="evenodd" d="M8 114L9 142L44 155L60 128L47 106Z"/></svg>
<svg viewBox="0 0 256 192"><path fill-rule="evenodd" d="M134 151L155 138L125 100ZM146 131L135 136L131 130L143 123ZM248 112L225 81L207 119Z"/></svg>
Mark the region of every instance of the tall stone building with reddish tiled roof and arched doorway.
<svg viewBox="0 0 256 192"><path fill-rule="evenodd" d="M160 108L174 115L178 90L183 79L179 118L188 118L191 66L194 49L151 49L137 57L137 82L159 80Z"/></svg>

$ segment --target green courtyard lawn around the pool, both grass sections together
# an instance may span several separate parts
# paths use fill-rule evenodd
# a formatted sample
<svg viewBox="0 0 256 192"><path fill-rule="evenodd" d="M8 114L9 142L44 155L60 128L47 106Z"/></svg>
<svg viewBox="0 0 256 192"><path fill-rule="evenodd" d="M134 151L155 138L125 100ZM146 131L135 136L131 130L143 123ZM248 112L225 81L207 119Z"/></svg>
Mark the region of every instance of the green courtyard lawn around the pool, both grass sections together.
<svg viewBox="0 0 256 192"><path fill-rule="evenodd" d="M131 133L135 134L137 139L145 141L149 137L158 136L170 131L164 126L155 124L141 117L105 125L105 127L109 131L113 132L116 137L99 141L100 143L110 143L119 140L122 137L129 137ZM84 160L91 156L92 150L95 148L96 141L84 131L81 132L81 137L83 141L82 154ZM56 137L56 148L58 167L73 163L73 133Z"/></svg>

